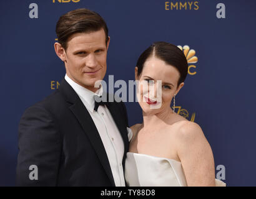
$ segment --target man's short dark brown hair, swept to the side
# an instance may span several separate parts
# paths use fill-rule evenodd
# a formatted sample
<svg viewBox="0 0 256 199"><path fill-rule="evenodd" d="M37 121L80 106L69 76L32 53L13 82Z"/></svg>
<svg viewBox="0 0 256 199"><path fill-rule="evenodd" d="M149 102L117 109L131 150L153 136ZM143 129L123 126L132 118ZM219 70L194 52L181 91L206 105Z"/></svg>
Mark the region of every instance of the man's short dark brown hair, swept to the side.
<svg viewBox="0 0 256 199"><path fill-rule="evenodd" d="M106 45L109 40L107 24L97 12L81 8L67 12L59 17L56 24L56 34L58 42L67 49L67 40L72 34L77 32L94 32L104 29L106 35Z"/></svg>

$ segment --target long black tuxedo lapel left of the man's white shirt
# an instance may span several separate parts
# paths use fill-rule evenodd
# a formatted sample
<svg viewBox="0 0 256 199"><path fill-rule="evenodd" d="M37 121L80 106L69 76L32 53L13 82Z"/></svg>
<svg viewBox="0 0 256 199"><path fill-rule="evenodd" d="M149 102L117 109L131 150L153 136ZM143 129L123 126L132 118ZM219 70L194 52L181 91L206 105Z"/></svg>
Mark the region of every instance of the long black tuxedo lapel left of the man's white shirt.
<svg viewBox="0 0 256 199"><path fill-rule="evenodd" d="M99 160L104 170L106 171L109 180L111 180L112 185L115 186L109 160L107 159L106 150L101 141L101 137L99 136L99 132L97 131L97 127L95 126L94 121L91 118L91 115L87 111L79 96L67 83L66 80L62 80L60 90L66 96L67 101L69 101L69 103L72 103L69 109L71 109L72 113L74 113L77 120L81 124L82 129L91 141L92 147L94 147L97 157L99 157Z"/></svg>

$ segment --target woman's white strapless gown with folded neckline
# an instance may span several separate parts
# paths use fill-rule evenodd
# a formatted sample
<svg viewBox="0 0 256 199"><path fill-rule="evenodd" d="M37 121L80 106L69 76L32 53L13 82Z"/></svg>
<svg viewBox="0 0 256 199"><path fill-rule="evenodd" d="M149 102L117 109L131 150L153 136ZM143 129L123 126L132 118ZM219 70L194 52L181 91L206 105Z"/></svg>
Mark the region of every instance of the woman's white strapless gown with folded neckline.
<svg viewBox="0 0 256 199"><path fill-rule="evenodd" d="M125 178L129 187L185 187L187 182L177 160L127 152ZM215 179L217 187L225 183Z"/></svg>

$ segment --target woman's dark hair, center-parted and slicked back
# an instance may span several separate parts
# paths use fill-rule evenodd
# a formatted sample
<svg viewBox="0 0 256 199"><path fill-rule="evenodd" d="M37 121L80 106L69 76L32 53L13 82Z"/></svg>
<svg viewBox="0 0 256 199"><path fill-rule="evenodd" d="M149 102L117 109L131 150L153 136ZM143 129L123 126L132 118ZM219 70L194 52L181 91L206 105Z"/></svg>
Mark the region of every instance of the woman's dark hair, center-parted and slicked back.
<svg viewBox="0 0 256 199"><path fill-rule="evenodd" d="M138 67L137 76L139 76L142 72L145 61L151 57L153 53L155 57L163 60L168 65L172 65L173 67L177 68L180 73L177 86L185 81L188 70L187 58L185 57L182 50L180 50L177 46L167 42L154 42L140 55L136 65Z"/></svg>

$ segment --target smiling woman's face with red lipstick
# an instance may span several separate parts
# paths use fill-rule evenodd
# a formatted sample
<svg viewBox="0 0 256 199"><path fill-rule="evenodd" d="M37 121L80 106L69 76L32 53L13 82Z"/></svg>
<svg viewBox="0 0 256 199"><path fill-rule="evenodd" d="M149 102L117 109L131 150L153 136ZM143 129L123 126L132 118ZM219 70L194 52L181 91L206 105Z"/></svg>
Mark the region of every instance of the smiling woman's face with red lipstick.
<svg viewBox="0 0 256 199"><path fill-rule="evenodd" d="M179 71L155 56L146 60L139 77L137 69L135 67L135 79L139 80L137 99L144 113L157 114L169 110L174 94L177 95L184 85L180 83L177 86Z"/></svg>

